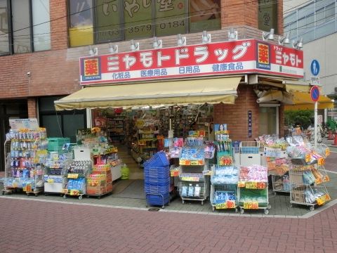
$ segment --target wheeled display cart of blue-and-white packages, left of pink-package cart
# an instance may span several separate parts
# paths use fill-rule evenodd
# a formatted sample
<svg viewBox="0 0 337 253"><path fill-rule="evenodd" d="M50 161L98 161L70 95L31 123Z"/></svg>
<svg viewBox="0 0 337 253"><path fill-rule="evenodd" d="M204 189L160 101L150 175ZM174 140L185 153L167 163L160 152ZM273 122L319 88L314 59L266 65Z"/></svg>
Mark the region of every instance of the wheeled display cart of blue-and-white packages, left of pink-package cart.
<svg viewBox="0 0 337 253"><path fill-rule="evenodd" d="M213 212L215 209L234 209L237 212L237 167L213 165L211 171L210 200Z"/></svg>

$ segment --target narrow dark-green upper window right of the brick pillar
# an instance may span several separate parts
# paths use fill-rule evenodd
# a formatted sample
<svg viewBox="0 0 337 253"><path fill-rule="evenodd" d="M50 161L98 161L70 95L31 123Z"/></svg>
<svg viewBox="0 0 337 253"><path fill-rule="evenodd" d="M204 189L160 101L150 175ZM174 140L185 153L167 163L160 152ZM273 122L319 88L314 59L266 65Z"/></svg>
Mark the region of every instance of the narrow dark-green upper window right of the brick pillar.
<svg viewBox="0 0 337 253"><path fill-rule="evenodd" d="M277 1L258 0L258 29L277 33Z"/></svg>

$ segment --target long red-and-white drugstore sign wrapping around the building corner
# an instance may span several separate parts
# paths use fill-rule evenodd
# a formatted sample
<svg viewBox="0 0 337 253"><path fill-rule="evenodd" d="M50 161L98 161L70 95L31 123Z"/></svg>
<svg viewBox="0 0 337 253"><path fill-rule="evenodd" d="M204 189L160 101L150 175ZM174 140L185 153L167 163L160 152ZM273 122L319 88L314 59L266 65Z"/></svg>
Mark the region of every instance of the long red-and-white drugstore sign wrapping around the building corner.
<svg viewBox="0 0 337 253"><path fill-rule="evenodd" d="M303 51L255 39L79 59L81 84L263 73L303 77Z"/></svg>

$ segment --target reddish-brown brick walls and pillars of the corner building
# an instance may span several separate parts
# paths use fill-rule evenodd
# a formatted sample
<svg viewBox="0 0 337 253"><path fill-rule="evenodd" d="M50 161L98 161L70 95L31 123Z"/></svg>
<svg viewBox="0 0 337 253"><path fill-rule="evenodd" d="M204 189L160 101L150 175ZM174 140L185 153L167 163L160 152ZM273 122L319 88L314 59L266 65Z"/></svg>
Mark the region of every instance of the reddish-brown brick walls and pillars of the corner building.
<svg viewBox="0 0 337 253"><path fill-rule="evenodd" d="M26 117L41 118L41 98L67 96L81 89L79 85L79 57L88 56L88 46L71 48L68 32L68 1L49 1L51 50L34 53L14 53L0 56L0 102L25 100ZM227 32L234 27L239 39L261 39L258 29L258 0L221 0L220 30L211 31L212 42L227 40ZM277 34L283 34L282 1L277 1ZM184 35L187 45L200 44L201 32ZM176 46L176 36L161 37L164 47ZM277 38L276 38L277 39ZM151 48L152 38L138 39L141 49ZM275 40L276 41L276 40ZM119 52L128 51L129 41L118 41ZM96 44L98 54L109 53L109 45ZM29 73L29 74L27 74ZM253 141L258 132L258 108L253 88L240 85L234 105L214 107L215 122L226 122L233 139ZM282 133L283 110L279 107L279 133ZM247 137L247 111L253 113L253 135ZM24 114L25 114L24 113ZM4 117L2 120L8 120ZM8 129L1 129L6 132ZM1 140L4 141L4 140ZM2 152L1 152L2 153Z"/></svg>

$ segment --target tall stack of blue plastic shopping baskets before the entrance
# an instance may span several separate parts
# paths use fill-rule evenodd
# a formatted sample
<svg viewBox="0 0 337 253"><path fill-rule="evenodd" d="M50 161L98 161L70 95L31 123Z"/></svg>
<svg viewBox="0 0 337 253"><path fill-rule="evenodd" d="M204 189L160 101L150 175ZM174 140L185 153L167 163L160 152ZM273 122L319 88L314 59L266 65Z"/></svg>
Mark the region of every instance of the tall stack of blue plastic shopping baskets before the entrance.
<svg viewBox="0 0 337 253"><path fill-rule="evenodd" d="M164 152L154 154L144 162L145 194L147 205L159 205L164 208L170 199L169 160Z"/></svg>

